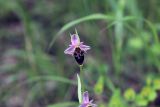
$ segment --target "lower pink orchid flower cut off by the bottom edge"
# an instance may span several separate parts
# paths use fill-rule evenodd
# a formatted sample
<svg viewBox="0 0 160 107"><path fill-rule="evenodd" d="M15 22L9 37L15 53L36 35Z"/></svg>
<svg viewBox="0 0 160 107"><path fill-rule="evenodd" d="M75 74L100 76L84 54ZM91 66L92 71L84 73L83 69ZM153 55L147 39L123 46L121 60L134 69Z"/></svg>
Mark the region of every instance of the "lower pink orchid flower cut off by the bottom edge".
<svg viewBox="0 0 160 107"><path fill-rule="evenodd" d="M82 104L79 107L97 107L97 105L92 102L93 100L89 100L88 91L85 91L83 93Z"/></svg>

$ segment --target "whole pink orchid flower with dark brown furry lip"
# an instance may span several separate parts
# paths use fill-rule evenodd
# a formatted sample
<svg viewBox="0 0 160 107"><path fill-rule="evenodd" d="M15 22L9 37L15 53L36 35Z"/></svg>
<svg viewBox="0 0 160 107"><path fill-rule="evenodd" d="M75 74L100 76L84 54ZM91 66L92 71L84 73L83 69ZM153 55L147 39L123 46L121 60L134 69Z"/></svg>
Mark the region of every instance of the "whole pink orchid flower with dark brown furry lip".
<svg viewBox="0 0 160 107"><path fill-rule="evenodd" d="M80 42L80 38L78 36L77 31L76 34L70 34L70 36L71 44L64 51L64 53L74 56L77 63L79 65L82 65L84 61L84 54L87 52L87 50L90 49L90 46L84 45L83 42Z"/></svg>

